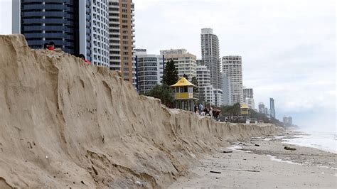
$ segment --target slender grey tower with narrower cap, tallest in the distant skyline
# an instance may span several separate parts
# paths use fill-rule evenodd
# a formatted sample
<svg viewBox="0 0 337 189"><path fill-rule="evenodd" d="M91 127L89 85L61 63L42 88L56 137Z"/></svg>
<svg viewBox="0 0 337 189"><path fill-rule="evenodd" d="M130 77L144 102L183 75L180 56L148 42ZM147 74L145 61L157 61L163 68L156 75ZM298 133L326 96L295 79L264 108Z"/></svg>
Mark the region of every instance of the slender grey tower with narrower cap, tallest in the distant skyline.
<svg viewBox="0 0 337 189"><path fill-rule="evenodd" d="M201 29L201 58L208 70L210 70L210 83L215 89L220 89L220 60L219 60L219 40L213 34L212 28Z"/></svg>

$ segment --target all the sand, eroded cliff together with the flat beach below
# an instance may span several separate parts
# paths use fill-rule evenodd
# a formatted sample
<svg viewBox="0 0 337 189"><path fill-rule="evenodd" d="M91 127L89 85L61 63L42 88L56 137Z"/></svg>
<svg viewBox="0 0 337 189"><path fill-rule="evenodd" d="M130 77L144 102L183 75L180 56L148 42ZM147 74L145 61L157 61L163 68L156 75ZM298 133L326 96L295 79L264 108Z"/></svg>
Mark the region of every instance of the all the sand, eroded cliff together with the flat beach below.
<svg viewBox="0 0 337 189"><path fill-rule="evenodd" d="M0 188L336 188L336 154L254 138L284 132L273 124L169 109L20 35L0 35L0 66Z"/></svg>

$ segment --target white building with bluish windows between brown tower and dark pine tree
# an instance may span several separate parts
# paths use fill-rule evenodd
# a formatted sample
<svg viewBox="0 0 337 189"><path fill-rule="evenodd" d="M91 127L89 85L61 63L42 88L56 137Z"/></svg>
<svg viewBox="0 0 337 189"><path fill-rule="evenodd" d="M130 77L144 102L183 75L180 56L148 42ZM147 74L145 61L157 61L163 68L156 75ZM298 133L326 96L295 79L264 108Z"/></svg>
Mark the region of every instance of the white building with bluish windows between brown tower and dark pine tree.
<svg viewBox="0 0 337 189"><path fill-rule="evenodd" d="M162 55L149 55L145 49L134 49L137 63L137 87L144 95L161 83L164 58Z"/></svg>

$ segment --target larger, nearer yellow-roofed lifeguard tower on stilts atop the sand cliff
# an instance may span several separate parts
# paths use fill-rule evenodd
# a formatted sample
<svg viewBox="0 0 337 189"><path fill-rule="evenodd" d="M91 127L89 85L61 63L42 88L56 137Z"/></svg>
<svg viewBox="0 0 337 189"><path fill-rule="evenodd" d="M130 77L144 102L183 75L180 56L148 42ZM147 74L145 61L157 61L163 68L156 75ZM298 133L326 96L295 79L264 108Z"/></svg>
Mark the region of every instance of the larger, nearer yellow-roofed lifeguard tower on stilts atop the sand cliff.
<svg viewBox="0 0 337 189"><path fill-rule="evenodd" d="M191 82L186 80L185 77L181 77L180 80L174 85L171 85L174 91L174 99L176 101L176 108L184 109L188 111L194 110L194 104L198 100L193 97L193 85Z"/></svg>

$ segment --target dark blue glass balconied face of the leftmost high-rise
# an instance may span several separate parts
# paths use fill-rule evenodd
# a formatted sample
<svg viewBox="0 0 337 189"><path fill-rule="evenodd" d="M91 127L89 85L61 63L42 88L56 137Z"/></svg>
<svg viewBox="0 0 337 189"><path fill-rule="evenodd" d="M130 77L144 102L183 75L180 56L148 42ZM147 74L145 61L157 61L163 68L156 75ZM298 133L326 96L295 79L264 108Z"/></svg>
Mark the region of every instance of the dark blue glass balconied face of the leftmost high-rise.
<svg viewBox="0 0 337 189"><path fill-rule="evenodd" d="M78 54L79 13L74 0L14 0L18 9L18 25L14 33L21 33L31 48L43 48L53 41L56 48Z"/></svg>

